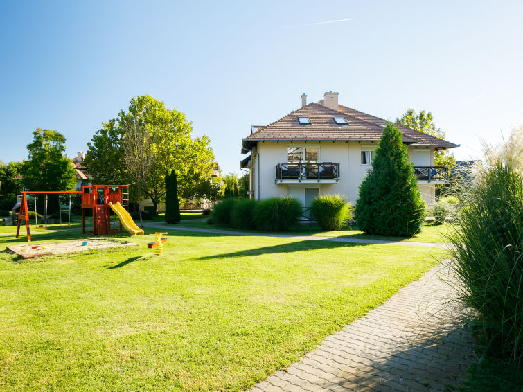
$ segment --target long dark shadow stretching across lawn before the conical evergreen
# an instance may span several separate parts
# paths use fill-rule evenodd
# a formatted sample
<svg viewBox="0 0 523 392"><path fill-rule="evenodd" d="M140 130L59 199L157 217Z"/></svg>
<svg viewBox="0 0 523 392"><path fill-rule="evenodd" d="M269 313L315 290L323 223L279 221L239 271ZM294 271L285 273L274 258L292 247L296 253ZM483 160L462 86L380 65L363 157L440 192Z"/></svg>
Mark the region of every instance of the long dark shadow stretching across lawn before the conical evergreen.
<svg viewBox="0 0 523 392"><path fill-rule="evenodd" d="M269 247L260 247L256 249L247 249L245 251L236 251L231 253L222 253L213 256L204 256L198 260L210 260L213 258L236 258L245 256L259 256L260 254L274 254L274 253L294 253L299 251L309 251L317 249L335 249L342 247L358 247L366 246L367 244L351 244L347 242L335 241L318 241L318 240L303 240L299 242L291 242L289 244L272 245Z"/></svg>

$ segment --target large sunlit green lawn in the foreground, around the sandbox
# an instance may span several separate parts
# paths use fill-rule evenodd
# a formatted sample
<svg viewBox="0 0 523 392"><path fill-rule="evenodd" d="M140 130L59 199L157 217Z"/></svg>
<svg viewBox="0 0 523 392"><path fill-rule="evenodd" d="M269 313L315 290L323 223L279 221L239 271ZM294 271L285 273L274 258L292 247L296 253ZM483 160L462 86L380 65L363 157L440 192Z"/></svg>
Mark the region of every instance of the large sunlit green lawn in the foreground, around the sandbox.
<svg viewBox="0 0 523 392"><path fill-rule="evenodd" d="M33 242L79 237L40 231ZM242 391L445 256L171 231L156 257L151 238L33 260L0 253L0 390ZM24 240L1 236L0 251Z"/></svg>

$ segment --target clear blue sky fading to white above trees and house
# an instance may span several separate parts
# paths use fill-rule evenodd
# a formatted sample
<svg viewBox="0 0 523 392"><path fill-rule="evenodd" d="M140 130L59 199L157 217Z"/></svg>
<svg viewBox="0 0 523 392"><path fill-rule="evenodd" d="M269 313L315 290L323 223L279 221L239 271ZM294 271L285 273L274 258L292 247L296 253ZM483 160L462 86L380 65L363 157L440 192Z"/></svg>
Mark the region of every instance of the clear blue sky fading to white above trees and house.
<svg viewBox="0 0 523 392"><path fill-rule="evenodd" d="M240 172L251 125L331 90L391 120L429 110L458 159L480 157L480 139L523 121L522 14L521 1L2 1L0 159L26 159L37 127L86 151L150 94Z"/></svg>

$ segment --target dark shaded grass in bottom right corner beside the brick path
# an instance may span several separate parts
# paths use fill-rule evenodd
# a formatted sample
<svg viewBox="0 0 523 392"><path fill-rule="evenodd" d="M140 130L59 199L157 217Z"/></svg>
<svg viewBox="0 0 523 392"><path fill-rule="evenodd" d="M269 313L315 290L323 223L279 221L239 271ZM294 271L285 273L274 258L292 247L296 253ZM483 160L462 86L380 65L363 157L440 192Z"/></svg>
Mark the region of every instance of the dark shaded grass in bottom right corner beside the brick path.
<svg viewBox="0 0 523 392"><path fill-rule="evenodd" d="M472 364L461 392L523 392L523 369L499 359Z"/></svg>

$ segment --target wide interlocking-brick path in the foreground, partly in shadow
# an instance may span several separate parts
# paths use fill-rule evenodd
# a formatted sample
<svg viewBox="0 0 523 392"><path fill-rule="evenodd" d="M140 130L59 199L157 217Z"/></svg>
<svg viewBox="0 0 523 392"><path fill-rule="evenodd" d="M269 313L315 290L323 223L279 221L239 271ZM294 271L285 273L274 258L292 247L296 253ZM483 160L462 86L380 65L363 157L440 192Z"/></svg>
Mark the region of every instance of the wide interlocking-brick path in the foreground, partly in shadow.
<svg viewBox="0 0 523 392"><path fill-rule="evenodd" d="M439 265L251 392L455 391L477 361Z"/></svg>

